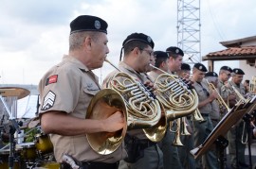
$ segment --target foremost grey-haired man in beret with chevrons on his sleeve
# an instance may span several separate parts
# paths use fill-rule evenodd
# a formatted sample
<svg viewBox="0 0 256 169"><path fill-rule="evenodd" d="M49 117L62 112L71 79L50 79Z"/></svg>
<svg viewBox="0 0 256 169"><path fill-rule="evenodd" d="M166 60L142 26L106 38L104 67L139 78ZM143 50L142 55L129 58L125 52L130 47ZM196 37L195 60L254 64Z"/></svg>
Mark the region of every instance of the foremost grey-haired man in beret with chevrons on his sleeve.
<svg viewBox="0 0 256 169"><path fill-rule="evenodd" d="M86 139L87 133L114 132L125 124L120 111L102 120L85 119L90 100L101 90L91 70L100 68L109 53L107 23L96 16L81 15L70 27L68 55L39 83L41 127L50 134L58 162L67 154L81 161L82 168L116 169L126 157L125 150L120 146L112 154L100 155Z"/></svg>

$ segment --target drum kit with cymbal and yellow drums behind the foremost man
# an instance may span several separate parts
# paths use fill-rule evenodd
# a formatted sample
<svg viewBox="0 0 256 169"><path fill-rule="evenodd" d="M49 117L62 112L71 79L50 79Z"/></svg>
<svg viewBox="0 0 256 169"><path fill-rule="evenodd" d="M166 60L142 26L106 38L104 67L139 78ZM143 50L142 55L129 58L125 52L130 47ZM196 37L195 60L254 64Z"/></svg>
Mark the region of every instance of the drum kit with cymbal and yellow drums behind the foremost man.
<svg viewBox="0 0 256 169"><path fill-rule="evenodd" d="M38 117L28 119L23 122L23 125L16 122L15 110L17 109L13 107L17 107L16 101L18 99L26 97L29 93L29 91L23 88L0 88L0 104L3 107L0 110L0 115L1 113L8 112L6 115L9 116L9 128L14 128L13 133L13 130L9 129L9 135L6 135L8 136L9 143L2 143L2 146L0 145L0 169L58 169L60 167L59 163L54 160L53 145L50 142L49 136L40 127L40 119ZM7 98L11 100L9 104L7 104ZM0 125L0 134L3 141L3 128L6 127L2 127L4 126L3 121L0 122ZM19 134L21 129L27 132ZM7 131L5 130L4 132ZM20 143L21 139L27 140L27 136L31 134L31 142Z"/></svg>

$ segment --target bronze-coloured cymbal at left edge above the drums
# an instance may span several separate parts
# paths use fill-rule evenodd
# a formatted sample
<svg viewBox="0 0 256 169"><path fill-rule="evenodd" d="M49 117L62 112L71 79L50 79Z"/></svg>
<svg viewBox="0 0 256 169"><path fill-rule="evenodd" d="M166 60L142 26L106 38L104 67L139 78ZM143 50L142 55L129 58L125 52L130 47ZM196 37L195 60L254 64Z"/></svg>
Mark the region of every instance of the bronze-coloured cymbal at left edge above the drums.
<svg viewBox="0 0 256 169"><path fill-rule="evenodd" d="M17 96L18 99L26 97L30 92L24 88L18 87L2 87L0 88L0 94L3 97Z"/></svg>

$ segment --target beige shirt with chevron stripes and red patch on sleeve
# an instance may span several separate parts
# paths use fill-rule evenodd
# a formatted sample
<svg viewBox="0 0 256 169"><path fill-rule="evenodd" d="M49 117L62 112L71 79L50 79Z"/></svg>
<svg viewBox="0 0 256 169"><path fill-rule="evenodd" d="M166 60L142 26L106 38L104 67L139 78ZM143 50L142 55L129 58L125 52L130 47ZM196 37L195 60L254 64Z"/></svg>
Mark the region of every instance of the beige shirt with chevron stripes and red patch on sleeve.
<svg viewBox="0 0 256 169"><path fill-rule="evenodd" d="M85 118L93 96L101 90L98 77L78 59L64 56L61 63L51 68L39 83L40 113L60 110L69 116ZM63 154L78 161L117 162L126 157L123 146L110 155L99 155L88 144L86 135L63 136L50 134L54 155L58 162Z"/></svg>

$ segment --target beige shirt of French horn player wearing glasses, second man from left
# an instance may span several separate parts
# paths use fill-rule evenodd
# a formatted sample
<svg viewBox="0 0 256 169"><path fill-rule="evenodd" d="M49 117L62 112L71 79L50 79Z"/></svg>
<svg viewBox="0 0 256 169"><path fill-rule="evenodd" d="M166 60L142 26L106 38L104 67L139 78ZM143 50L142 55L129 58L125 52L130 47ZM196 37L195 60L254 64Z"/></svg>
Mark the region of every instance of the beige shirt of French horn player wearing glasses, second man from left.
<svg viewBox="0 0 256 169"><path fill-rule="evenodd" d="M133 68L128 66L123 61L119 62L119 70L123 73L126 73L126 74L130 75L130 76L136 77L136 79L139 80L142 84L144 84L144 82L146 80L148 80L146 74L137 73ZM114 71L114 72L110 73L108 76L106 76L106 78L103 81L103 87L105 87L105 84L108 81L109 77L114 76L118 72L119 71ZM138 139L147 139L147 137L144 134L142 129L131 129L131 130L127 131L127 133L130 134L131 136L137 137Z"/></svg>

